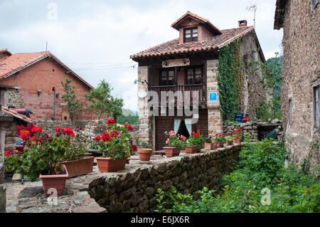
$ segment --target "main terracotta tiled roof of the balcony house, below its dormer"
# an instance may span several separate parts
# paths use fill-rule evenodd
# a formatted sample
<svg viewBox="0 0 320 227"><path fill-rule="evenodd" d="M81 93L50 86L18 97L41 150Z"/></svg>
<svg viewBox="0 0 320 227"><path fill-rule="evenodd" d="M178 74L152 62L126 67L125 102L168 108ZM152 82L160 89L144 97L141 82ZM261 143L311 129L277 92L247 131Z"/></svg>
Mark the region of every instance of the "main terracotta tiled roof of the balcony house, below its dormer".
<svg viewBox="0 0 320 227"><path fill-rule="evenodd" d="M246 33L252 31L253 26L243 26L240 28L231 28L221 30L221 35L211 36L203 41L192 42L192 43L179 43L178 38L168 41L166 43L162 43L158 46L154 46L145 51L141 51L136 53L130 58L144 58L151 56L165 56L169 54L175 53L188 53L188 52L196 52L196 51L210 51L214 49L220 49L226 44L234 41L240 36L245 35Z"/></svg>

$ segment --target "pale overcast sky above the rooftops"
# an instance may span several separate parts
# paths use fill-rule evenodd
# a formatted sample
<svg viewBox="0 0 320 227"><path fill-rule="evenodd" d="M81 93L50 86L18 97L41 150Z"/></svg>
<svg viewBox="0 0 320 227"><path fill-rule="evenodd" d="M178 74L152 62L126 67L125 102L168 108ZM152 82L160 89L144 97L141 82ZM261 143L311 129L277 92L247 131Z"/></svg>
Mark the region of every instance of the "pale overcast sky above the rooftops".
<svg viewBox="0 0 320 227"><path fill-rule="evenodd" d="M105 79L124 107L137 110L137 65L129 56L178 37L171 28L186 11L220 29L253 25L265 58L279 52L282 29L274 30L275 0L46 1L0 0L0 48L11 53L48 51L93 86Z"/></svg>

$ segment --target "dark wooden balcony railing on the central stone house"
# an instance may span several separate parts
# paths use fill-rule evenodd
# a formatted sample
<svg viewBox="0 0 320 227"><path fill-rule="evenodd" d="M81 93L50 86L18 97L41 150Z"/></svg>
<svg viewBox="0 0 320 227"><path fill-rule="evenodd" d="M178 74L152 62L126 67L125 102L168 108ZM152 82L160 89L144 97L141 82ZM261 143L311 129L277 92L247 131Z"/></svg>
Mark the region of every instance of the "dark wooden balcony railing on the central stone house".
<svg viewBox="0 0 320 227"><path fill-rule="evenodd" d="M149 91L155 91L159 95L159 100L161 98L161 92L169 92L172 91L176 93L176 91L181 91L182 94L184 95L185 92L190 92L190 98L191 100L188 100L187 97L182 97L182 100L184 102L194 100L193 98L193 91L198 91L198 100L200 104L206 104L207 101L207 85L205 83L200 83L200 84L192 84L192 85L164 85L164 86L149 86L148 87Z"/></svg>

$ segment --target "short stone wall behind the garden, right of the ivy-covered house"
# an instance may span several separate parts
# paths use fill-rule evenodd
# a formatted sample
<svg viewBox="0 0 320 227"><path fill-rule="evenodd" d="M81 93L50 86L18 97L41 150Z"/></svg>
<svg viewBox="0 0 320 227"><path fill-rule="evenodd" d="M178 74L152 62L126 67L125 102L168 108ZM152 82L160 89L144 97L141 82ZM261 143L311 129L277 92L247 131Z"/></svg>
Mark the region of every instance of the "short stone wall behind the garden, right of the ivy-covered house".
<svg viewBox="0 0 320 227"><path fill-rule="evenodd" d="M228 134L228 132L235 132L238 129L242 129L242 133L250 133L252 135L252 139L257 140L259 130L263 127L276 129L278 132L278 139L282 138L284 135L282 121L277 119L270 120L269 122L245 122L237 125L235 125L233 122L230 122L228 125L223 125L223 132Z"/></svg>

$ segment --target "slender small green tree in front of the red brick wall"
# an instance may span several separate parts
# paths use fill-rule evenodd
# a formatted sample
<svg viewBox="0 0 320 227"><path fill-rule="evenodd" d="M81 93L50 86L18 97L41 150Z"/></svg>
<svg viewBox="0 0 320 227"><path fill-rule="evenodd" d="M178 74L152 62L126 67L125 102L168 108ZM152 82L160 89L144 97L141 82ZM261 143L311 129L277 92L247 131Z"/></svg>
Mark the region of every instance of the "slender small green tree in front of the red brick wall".
<svg viewBox="0 0 320 227"><path fill-rule="evenodd" d="M71 80L66 77L65 83L61 81L65 95L62 96L64 102L67 103L67 111L69 113L70 120L73 121L83 111L83 101L75 97L75 86L70 85Z"/></svg>

